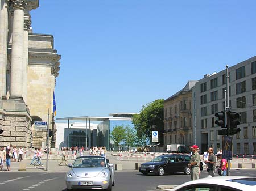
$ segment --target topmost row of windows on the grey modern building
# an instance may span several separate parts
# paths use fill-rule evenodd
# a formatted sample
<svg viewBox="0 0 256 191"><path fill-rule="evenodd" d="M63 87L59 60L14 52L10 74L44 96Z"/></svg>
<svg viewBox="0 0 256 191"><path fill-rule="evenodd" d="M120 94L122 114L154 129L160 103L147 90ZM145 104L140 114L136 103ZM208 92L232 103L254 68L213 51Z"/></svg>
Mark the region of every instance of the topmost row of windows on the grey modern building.
<svg viewBox="0 0 256 191"><path fill-rule="evenodd" d="M256 61L251 63L251 74L256 73ZM245 66L242 66L236 69L236 80L244 78L245 74ZM229 82L230 82L230 73L229 73ZM226 84L226 74L222 75L222 85ZM210 89L218 87L218 78L214 78L210 80ZM207 91L207 82L201 84L201 92Z"/></svg>

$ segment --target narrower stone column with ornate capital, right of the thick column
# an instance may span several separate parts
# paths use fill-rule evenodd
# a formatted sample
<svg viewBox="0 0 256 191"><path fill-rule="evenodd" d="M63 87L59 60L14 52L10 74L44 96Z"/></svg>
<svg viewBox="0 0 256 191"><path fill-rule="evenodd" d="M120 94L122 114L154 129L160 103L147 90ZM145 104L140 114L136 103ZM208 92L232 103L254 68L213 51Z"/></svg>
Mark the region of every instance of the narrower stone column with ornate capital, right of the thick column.
<svg viewBox="0 0 256 191"><path fill-rule="evenodd" d="M27 103L27 67L28 67L28 31L31 26L30 16L24 19L24 37L23 37L23 84L22 84L22 97Z"/></svg>

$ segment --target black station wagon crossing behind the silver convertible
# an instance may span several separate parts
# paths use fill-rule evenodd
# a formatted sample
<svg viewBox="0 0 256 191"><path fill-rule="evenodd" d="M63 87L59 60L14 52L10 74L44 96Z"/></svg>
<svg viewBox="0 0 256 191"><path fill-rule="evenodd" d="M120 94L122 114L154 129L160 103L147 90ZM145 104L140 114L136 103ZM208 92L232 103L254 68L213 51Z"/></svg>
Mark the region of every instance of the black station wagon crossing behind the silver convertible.
<svg viewBox="0 0 256 191"><path fill-rule="evenodd" d="M161 155L151 160L151 162L141 164L139 167L139 172L143 173L143 175L155 173L159 176L163 176L164 173L176 172L184 172L185 175L189 175L189 161L190 156L187 154Z"/></svg>

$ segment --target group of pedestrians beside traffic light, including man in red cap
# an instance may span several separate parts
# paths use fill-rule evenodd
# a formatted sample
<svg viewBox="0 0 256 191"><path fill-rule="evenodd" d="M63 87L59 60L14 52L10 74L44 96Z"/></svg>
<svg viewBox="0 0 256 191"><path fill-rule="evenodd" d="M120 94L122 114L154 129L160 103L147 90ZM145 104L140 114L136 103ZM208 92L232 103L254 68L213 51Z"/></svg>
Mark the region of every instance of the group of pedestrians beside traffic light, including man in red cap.
<svg viewBox="0 0 256 191"><path fill-rule="evenodd" d="M208 150L204 152L203 162L201 162L199 147L197 145L193 145L190 148L192 154L188 167L191 169L191 180L199 179L200 171L202 171L204 168L206 168L208 175L212 177L216 175L215 169L217 169L218 175L226 176L227 160L222 158L222 150L217 152L216 162L216 155L213 154L213 148L208 148Z"/></svg>

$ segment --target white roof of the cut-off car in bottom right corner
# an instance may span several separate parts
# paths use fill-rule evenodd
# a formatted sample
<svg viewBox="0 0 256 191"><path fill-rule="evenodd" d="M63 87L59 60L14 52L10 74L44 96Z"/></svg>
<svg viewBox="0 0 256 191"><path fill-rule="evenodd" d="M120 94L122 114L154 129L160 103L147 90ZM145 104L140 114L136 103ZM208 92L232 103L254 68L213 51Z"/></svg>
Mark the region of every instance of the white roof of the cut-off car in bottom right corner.
<svg viewBox="0 0 256 191"><path fill-rule="evenodd" d="M200 185L200 184L210 184L210 185L223 185L223 186L229 186L231 188L236 188L240 190L256 190L256 181L252 181L253 185L245 184L243 182L234 182L234 181L228 181L228 180L235 180L235 179L250 179L253 178L256 180L256 177L251 176L215 176L215 177L207 177L203 179L193 180L189 182L185 182L184 184L181 184L180 186L177 186L174 189L171 190L178 190L180 188L183 188L184 186L188 185Z"/></svg>

